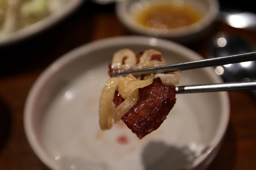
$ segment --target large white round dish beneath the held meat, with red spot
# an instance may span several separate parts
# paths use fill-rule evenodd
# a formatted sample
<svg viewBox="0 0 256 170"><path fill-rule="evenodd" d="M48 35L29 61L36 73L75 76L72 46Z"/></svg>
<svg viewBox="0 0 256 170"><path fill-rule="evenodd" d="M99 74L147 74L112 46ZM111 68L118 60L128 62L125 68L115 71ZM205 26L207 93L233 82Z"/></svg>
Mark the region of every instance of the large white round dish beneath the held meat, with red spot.
<svg viewBox="0 0 256 170"><path fill-rule="evenodd" d="M205 169L229 121L227 92L178 94L167 119L139 140L124 124L102 132L98 104L115 51L154 48L169 63L202 59L169 40L121 36L98 40L51 64L29 92L24 124L32 149L51 169ZM182 72L180 85L219 83L212 68Z"/></svg>

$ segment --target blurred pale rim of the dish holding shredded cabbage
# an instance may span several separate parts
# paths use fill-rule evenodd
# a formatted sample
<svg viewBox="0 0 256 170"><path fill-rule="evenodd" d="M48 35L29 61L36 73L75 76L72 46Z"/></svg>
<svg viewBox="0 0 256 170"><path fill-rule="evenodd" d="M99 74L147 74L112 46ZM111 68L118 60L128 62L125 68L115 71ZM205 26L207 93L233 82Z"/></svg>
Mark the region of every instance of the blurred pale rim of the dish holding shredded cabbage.
<svg viewBox="0 0 256 170"><path fill-rule="evenodd" d="M47 28L50 28L74 12L78 7L80 7L84 0L53 0L51 2L53 2L52 5L54 5L52 8L58 10L52 12L42 20L39 20L36 23L26 26L15 32L8 34L2 33L0 36L0 47L27 39L28 37L38 34Z"/></svg>

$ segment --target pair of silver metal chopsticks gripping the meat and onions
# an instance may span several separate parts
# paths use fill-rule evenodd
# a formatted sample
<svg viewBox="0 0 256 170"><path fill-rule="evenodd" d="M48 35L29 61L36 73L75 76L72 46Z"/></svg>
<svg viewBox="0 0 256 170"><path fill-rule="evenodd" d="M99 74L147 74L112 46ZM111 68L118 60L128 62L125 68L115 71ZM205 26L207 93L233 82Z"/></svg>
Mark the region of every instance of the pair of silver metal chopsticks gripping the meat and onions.
<svg viewBox="0 0 256 170"><path fill-rule="evenodd" d="M255 61L256 52L249 52L231 56L224 56L218 58L208 58L191 62L184 62L172 65L164 65L160 67L144 68L139 70L124 71L116 73L119 75L143 75L143 74L156 74L166 73L172 71L191 70L196 68L212 67L217 65L234 64L246 61ZM199 93L199 92L218 92L218 91L231 91L231 90L252 90L256 89L256 81L240 81L231 83L215 83L215 84L199 84L189 86L176 86L176 93Z"/></svg>

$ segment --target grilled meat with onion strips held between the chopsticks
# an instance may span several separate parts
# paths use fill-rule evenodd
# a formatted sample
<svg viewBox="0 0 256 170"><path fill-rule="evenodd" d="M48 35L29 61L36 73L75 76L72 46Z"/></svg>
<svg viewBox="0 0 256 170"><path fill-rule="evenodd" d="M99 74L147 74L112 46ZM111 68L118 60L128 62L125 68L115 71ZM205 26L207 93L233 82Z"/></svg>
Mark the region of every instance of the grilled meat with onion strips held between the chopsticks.
<svg viewBox="0 0 256 170"><path fill-rule="evenodd" d="M148 49L136 53L121 49L109 64L109 78L99 101L99 125L108 130L122 120L139 139L160 127L173 108L180 71L114 77L115 73L167 65L161 53Z"/></svg>

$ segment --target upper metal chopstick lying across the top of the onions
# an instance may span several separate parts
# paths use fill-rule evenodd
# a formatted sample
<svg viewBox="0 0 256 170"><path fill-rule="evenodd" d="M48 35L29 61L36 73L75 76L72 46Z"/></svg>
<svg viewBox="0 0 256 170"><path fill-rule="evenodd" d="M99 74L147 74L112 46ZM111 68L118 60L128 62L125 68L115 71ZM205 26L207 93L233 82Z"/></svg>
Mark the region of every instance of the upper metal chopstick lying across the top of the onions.
<svg viewBox="0 0 256 170"><path fill-rule="evenodd" d="M249 53L217 57L217 58L208 58L208 59L202 59L197 61L172 64L172 65L163 65L159 67L124 71L124 72L116 73L115 76L127 75L127 74L142 75L142 74L166 73L166 72L172 72L172 71L178 71L178 70L179 71L191 70L196 68L234 64L234 63L254 61L254 60L256 60L256 52L249 52Z"/></svg>

